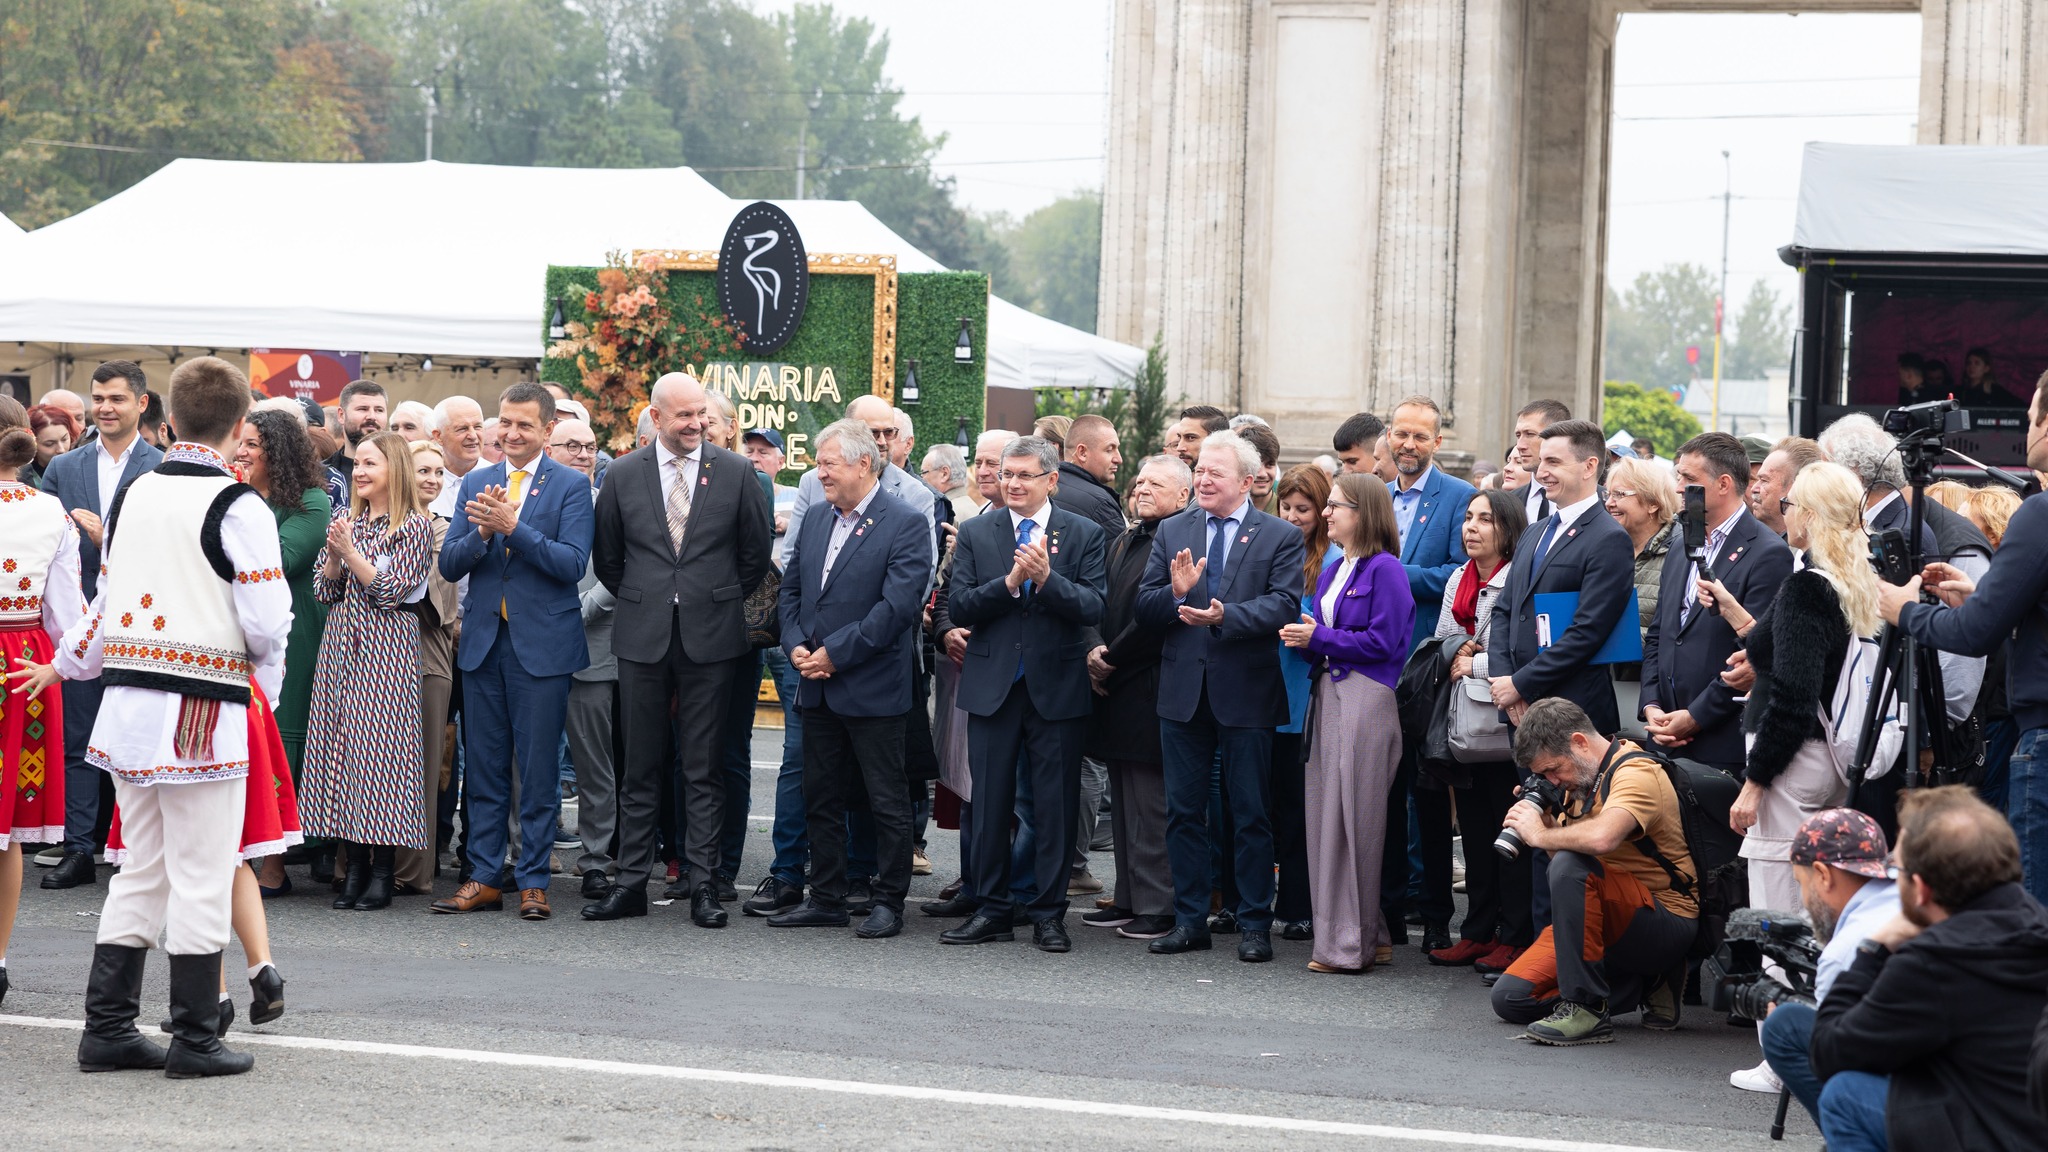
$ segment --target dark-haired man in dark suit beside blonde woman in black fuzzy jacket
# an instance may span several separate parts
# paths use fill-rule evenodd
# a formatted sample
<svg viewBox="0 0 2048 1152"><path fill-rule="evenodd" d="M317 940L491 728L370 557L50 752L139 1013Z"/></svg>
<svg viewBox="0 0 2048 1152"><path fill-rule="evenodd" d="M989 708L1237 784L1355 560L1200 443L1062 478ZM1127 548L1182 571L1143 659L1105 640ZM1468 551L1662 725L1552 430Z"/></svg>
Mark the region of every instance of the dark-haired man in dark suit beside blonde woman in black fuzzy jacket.
<svg viewBox="0 0 2048 1152"><path fill-rule="evenodd" d="M1749 515L1743 490L1749 453L1729 433L1700 433L1677 449L1679 490L1706 492L1706 556L1714 580L1761 615L1792 574L1792 549ZM1657 615L1642 637L1642 719L1651 740L1679 756L1743 771L1743 705L1720 681L1741 648L1720 613L1700 603L1700 568L1673 539L1657 588Z"/></svg>

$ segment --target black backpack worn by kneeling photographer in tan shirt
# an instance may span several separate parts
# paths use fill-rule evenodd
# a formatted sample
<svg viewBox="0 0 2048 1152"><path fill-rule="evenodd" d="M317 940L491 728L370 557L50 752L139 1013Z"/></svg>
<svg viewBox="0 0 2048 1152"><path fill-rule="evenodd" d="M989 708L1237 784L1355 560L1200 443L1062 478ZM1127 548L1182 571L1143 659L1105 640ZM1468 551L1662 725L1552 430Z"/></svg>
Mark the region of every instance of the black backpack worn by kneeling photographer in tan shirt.
<svg viewBox="0 0 2048 1152"><path fill-rule="evenodd" d="M1624 752L1608 765L1608 771L1599 779L1602 806L1608 801L1608 789L1614 785L1614 769L1624 760L1655 763L1663 769L1665 779L1671 781L1671 791L1677 795L1679 830L1686 834L1686 851L1692 855L1692 867L1698 871L1698 877L1688 877L1679 871L1657 849L1657 840L1647 830L1630 840L1630 845L1665 869L1673 892L1690 896L1700 904L1700 927L1686 957L1706 959L1720 947L1729 912L1749 906L1749 867L1741 859L1743 836L1729 826L1729 808L1735 806L1743 783L1712 765L1677 760L1651 748L1638 748Z"/></svg>

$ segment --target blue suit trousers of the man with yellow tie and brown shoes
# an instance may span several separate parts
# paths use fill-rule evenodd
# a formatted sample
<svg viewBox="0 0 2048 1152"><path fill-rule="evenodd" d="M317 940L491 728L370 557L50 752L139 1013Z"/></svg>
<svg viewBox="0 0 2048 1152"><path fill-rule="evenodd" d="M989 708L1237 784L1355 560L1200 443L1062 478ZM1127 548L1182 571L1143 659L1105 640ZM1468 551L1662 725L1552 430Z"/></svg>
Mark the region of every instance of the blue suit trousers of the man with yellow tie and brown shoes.
<svg viewBox="0 0 2048 1152"><path fill-rule="evenodd" d="M469 756L469 879L498 883L512 818L512 773L518 773L520 888L547 888L549 853L561 822L561 742L569 709L569 676L535 676L512 654L500 627L483 662L463 672L463 738Z"/></svg>

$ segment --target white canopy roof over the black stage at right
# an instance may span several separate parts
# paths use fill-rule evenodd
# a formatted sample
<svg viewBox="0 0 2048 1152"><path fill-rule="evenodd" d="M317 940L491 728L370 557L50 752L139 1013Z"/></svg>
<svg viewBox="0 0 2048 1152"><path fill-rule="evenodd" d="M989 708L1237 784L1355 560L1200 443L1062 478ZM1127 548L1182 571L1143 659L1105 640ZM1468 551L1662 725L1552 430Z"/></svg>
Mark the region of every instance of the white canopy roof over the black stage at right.
<svg viewBox="0 0 2048 1152"><path fill-rule="evenodd" d="M2048 148L1808 143L1792 244L2048 254Z"/></svg>

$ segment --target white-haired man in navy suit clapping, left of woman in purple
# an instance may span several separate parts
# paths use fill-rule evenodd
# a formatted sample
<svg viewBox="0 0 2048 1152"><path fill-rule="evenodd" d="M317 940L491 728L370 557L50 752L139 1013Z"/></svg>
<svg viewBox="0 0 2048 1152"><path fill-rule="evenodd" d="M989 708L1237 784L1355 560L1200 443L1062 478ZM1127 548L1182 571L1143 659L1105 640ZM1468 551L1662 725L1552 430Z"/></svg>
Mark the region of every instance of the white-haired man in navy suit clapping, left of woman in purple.
<svg viewBox="0 0 2048 1152"><path fill-rule="evenodd" d="M1288 722L1280 627L1300 613L1300 531L1251 506L1257 449L1231 433L1202 441L1196 506L1159 525L1137 617L1167 629L1159 650L1159 744L1165 756L1174 931L1161 955L1206 949L1210 892L1208 773L1223 750L1229 795L1237 959L1272 959L1274 836L1266 818L1274 728Z"/></svg>

